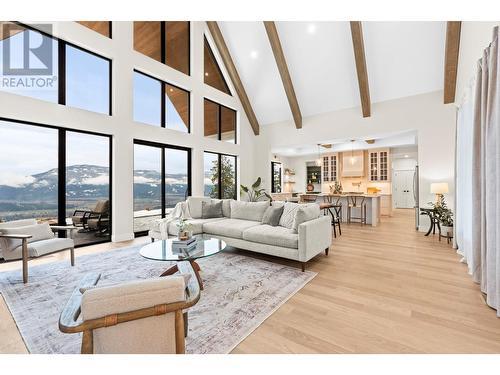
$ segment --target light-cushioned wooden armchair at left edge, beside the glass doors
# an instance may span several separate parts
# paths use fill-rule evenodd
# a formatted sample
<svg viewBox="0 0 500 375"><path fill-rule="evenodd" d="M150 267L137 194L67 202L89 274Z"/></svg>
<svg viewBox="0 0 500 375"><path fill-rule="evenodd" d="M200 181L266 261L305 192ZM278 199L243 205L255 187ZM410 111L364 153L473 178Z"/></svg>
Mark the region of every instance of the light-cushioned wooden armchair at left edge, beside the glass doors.
<svg viewBox="0 0 500 375"><path fill-rule="evenodd" d="M0 260L23 261L23 282L28 282L28 261L44 255L69 250L71 265L75 265L74 226L38 224L36 219L0 223ZM67 238L58 238L54 232L65 230Z"/></svg>

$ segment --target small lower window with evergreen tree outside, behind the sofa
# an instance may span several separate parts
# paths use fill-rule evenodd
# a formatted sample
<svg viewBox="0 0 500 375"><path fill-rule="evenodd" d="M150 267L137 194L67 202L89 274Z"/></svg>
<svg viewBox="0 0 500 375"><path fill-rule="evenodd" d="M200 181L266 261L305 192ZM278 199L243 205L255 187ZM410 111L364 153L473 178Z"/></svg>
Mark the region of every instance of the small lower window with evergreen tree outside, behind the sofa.
<svg viewBox="0 0 500 375"><path fill-rule="evenodd" d="M236 156L205 152L204 193L207 197L236 199Z"/></svg>

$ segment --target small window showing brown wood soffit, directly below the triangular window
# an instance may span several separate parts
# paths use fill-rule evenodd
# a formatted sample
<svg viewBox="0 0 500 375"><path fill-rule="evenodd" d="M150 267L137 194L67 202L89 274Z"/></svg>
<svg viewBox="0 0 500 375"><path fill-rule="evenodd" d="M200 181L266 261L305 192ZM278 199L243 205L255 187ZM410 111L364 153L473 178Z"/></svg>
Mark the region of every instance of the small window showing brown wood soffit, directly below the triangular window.
<svg viewBox="0 0 500 375"><path fill-rule="evenodd" d="M236 143L236 111L211 100L204 100L205 137Z"/></svg>

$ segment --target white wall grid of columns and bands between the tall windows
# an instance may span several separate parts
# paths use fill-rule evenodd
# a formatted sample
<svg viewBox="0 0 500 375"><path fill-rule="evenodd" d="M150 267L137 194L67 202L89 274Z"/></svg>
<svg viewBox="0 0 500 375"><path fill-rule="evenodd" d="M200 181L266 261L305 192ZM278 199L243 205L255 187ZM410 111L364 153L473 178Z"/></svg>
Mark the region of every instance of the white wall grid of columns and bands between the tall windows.
<svg viewBox="0 0 500 375"><path fill-rule="evenodd" d="M193 195L203 195L203 151L237 155L239 157L238 183L248 185L253 182L255 136L239 99L237 96L227 95L203 83L203 34L208 33L205 22L191 22L191 76L184 75L135 52L132 22L113 22L113 39L105 38L76 22L55 22L53 30L54 36L112 60L113 116L0 92L0 117L67 129L88 130L112 136L113 241L133 238L134 139L191 148ZM218 57L217 52L214 51L214 53ZM220 65L224 70L223 64ZM133 121L133 69L138 69L191 92L191 134ZM230 82L228 84L231 86ZM204 97L238 111L239 144L220 142L203 136Z"/></svg>

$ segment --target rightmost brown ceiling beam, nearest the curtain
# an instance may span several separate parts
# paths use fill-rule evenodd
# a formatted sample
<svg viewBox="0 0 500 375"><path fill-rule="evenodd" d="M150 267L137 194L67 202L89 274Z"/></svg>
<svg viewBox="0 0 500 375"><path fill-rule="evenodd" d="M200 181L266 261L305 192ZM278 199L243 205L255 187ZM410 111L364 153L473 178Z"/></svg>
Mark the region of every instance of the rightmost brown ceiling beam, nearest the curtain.
<svg viewBox="0 0 500 375"><path fill-rule="evenodd" d="M444 104L455 101L457 88L458 52L460 49L460 21L446 24L446 50L444 54Z"/></svg>

